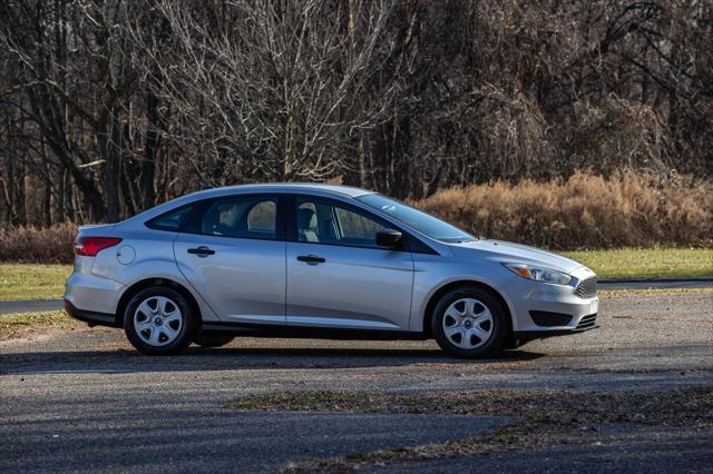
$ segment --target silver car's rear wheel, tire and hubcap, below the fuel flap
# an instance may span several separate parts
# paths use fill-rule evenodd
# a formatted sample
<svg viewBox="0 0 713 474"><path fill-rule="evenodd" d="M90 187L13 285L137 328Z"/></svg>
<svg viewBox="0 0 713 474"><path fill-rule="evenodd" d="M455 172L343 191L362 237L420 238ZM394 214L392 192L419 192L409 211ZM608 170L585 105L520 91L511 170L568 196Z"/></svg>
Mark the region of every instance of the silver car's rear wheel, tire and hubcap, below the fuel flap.
<svg viewBox="0 0 713 474"><path fill-rule="evenodd" d="M140 353L177 354L188 347L198 328L197 315L173 288L152 287L136 294L124 313L124 332Z"/></svg>

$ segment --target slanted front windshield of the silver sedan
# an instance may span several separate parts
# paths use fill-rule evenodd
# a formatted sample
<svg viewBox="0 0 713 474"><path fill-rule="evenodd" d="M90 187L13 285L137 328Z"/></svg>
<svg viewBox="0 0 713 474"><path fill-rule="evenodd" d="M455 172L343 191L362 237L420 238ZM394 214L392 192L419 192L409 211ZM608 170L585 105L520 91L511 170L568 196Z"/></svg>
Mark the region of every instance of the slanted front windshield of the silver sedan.
<svg viewBox="0 0 713 474"><path fill-rule="evenodd" d="M356 197L369 207L379 209L394 219L406 224L407 226L426 234L427 236L447 243L470 241L473 237L458 227L443 223L436 217L414 209L411 206L390 199L381 195L363 195Z"/></svg>

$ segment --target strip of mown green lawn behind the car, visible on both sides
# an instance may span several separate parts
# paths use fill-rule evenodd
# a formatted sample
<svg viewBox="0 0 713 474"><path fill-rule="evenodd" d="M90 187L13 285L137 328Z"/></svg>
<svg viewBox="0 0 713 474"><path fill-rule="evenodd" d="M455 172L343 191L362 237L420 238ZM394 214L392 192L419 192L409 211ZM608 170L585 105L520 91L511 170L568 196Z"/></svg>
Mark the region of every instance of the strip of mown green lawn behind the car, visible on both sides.
<svg viewBox="0 0 713 474"><path fill-rule="evenodd" d="M713 249L564 251L606 278L713 277ZM0 264L0 300L59 298L69 265Z"/></svg>

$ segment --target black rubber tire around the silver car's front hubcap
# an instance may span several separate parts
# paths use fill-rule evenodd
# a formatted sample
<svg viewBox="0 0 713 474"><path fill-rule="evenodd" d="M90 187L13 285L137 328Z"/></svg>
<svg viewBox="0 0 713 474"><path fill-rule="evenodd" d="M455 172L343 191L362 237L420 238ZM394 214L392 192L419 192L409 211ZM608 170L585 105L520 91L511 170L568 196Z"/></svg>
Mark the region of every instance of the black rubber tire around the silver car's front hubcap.
<svg viewBox="0 0 713 474"><path fill-rule="evenodd" d="M490 335L488 339L482 343L476 337L477 344L480 344L475 348L461 348L451 342L445 333L443 318L446 317L446 310L456 302L462 298L472 298L480 302L492 316L492 326L490 328ZM490 325L488 325L490 327ZM431 330L438 345L448 355L459 358L479 358L497 354L504 346L507 337L510 333L510 323L508 320L508 313L502 307L500 300L487 289L479 287L461 287L448 292L441 297L433 309L433 316L431 318Z"/></svg>

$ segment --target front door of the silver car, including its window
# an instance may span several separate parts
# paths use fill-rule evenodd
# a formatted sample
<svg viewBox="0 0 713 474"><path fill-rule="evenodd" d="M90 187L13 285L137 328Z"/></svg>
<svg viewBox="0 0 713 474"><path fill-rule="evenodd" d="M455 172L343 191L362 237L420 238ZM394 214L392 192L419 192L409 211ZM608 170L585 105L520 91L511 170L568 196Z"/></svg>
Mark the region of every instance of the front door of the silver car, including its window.
<svg viewBox="0 0 713 474"><path fill-rule="evenodd" d="M407 330L413 260L377 246L389 224L334 199L296 196L290 207L287 324Z"/></svg>

